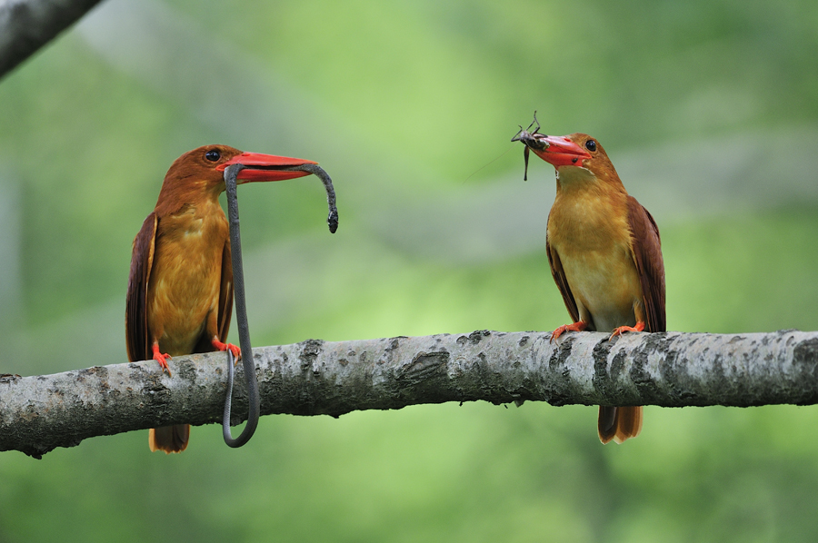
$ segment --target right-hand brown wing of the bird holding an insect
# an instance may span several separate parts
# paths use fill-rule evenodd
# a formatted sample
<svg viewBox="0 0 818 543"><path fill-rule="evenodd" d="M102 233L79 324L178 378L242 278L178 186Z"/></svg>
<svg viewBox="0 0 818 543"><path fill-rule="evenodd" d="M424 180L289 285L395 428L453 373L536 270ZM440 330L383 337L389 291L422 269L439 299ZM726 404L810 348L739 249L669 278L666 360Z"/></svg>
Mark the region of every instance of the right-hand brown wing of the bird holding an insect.
<svg viewBox="0 0 818 543"><path fill-rule="evenodd" d="M664 314L664 262L659 227L651 213L628 196L628 223L633 236L633 259L642 281L647 322L645 331L666 331Z"/></svg>

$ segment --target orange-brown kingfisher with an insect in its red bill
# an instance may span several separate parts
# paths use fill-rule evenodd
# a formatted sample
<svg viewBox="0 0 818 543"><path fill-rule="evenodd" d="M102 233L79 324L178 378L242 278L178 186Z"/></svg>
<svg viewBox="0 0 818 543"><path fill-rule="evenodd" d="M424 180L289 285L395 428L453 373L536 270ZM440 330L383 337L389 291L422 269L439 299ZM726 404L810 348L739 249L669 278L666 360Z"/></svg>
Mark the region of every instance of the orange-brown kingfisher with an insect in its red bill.
<svg viewBox="0 0 818 543"><path fill-rule="evenodd" d="M666 331L662 241L653 216L625 191L596 139L538 129L539 123L534 133L521 128L513 141L526 145L526 168L531 149L556 170L545 250L573 322L551 340L568 331L611 332L609 340L626 331ZM641 406L600 406L599 439L634 438L642 421Z"/></svg>

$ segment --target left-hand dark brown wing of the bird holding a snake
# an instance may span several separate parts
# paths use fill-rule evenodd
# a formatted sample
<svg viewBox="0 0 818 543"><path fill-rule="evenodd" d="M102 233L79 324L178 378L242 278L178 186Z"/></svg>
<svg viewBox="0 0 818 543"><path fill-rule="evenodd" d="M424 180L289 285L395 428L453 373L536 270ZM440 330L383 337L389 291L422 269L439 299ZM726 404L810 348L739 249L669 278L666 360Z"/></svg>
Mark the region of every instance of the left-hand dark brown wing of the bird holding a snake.
<svg viewBox="0 0 818 543"><path fill-rule="evenodd" d="M150 360L151 338L147 329L147 286L154 265L156 240L156 213L142 223L134 239L131 255L131 273L128 276L128 294L125 299L125 344L128 360Z"/></svg>

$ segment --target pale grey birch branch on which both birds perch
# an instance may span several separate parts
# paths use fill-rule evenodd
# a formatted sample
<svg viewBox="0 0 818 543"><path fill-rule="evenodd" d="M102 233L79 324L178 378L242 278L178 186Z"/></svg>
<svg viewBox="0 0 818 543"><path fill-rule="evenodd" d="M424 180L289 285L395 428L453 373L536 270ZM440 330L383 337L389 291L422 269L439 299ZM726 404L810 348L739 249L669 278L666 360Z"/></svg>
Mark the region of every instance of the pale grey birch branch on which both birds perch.
<svg viewBox="0 0 818 543"><path fill-rule="evenodd" d="M818 403L818 332L752 334L474 331L254 349L262 414L331 415L421 403L755 406ZM175 357L0 377L0 450L39 458L85 438L218 422L226 356ZM238 368L241 372L241 367ZM236 377L234 424L246 391Z"/></svg>

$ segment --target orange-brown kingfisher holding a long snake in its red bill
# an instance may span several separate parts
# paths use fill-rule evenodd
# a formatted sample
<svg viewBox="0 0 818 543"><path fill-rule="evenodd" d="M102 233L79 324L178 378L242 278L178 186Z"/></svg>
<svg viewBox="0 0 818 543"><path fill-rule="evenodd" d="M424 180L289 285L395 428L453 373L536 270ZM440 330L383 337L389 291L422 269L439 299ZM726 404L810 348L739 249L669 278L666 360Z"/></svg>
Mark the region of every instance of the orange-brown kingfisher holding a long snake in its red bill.
<svg viewBox="0 0 818 543"><path fill-rule="evenodd" d="M233 311L229 226L219 205L224 169L244 164L236 183L280 181L309 175L283 168L315 164L304 159L244 153L205 145L171 164L154 211L136 234L125 300L128 360L156 360L170 375L176 355L241 350L225 343ZM189 424L151 429L152 451L187 448Z"/></svg>

